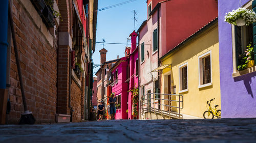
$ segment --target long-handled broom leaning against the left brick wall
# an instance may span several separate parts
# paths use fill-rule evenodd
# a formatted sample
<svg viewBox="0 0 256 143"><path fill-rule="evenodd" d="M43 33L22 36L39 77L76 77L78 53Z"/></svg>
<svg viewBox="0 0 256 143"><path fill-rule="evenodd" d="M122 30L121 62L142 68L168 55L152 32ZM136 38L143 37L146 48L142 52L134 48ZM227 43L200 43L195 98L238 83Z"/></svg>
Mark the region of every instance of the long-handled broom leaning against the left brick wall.
<svg viewBox="0 0 256 143"><path fill-rule="evenodd" d="M18 69L20 90L22 91L22 100L23 100L23 106L24 106L24 113L22 113L22 117L20 118L19 124L34 124L35 118L33 117L32 112L28 111L28 109L27 109L26 97L24 94L22 71L20 70L17 43L16 43L16 38L15 38L15 33L14 33L13 18L12 18L12 11L11 11L10 3L9 3L9 19L10 19L10 25L11 25L11 31L12 31L12 40L13 40L16 64L17 64L17 69Z"/></svg>

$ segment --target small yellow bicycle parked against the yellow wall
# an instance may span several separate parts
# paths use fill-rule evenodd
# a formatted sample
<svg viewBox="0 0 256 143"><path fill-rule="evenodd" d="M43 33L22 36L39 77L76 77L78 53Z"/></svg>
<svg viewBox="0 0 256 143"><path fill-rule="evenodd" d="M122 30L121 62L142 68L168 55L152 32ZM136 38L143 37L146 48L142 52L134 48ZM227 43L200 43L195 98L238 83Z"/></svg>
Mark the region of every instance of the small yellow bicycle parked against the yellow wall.
<svg viewBox="0 0 256 143"><path fill-rule="evenodd" d="M221 118L221 110L217 110L219 105L214 105L215 108L210 106L210 102L213 100L215 100L215 98L206 102L206 107L208 106L208 110L204 112L204 119L214 119L215 117L217 117L217 119Z"/></svg>

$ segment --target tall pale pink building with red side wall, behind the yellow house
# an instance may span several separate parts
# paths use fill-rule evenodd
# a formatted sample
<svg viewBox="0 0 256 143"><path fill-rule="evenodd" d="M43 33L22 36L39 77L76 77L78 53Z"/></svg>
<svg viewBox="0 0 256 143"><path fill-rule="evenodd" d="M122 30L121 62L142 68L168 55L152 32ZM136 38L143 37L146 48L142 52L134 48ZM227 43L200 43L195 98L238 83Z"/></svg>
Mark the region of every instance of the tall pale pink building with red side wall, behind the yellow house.
<svg viewBox="0 0 256 143"><path fill-rule="evenodd" d="M218 2L215 0L147 0L146 3L147 19L137 31L140 97L147 93L159 93L160 88L161 91L167 90L162 87L159 71L155 70L167 65L161 65L158 59L218 16ZM166 92L170 94L170 91Z"/></svg>

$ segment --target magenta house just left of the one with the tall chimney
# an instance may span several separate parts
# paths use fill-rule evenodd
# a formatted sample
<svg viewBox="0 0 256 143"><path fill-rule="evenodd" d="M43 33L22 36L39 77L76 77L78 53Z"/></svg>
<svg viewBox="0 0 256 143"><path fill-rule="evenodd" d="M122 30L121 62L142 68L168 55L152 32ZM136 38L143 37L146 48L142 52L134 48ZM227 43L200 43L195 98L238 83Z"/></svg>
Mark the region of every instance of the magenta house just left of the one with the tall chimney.
<svg viewBox="0 0 256 143"><path fill-rule="evenodd" d="M124 56L119 59L116 64L110 69L112 73L112 93L115 93L117 99L116 119L128 119L127 115L127 99L128 99L128 83L127 80L127 61L128 57Z"/></svg>

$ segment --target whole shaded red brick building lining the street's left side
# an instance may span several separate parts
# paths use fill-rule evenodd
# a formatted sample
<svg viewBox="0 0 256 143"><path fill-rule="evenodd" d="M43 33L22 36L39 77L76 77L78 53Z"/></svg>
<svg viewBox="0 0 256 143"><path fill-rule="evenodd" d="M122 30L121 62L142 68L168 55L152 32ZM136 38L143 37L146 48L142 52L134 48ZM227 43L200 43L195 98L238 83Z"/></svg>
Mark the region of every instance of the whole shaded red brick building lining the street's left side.
<svg viewBox="0 0 256 143"><path fill-rule="evenodd" d="M51 13L47 3L41 10L32 0L11 3L26 101L36 123L80 122L88 119L91 106L98 0L53 2L61 17L46 17L45 11ZM12 39L8 42L11 111L6 122L17 124L24 109Z"/></svg>

